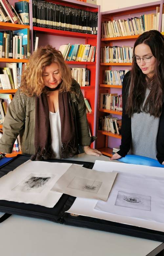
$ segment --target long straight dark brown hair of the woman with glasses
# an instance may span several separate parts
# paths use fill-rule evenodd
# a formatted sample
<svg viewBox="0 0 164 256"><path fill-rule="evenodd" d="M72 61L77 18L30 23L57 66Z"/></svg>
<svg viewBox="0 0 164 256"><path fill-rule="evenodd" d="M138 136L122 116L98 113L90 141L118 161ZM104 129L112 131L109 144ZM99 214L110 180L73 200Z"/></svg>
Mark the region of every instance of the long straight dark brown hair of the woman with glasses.
<svg viewBox="0 0 164 256"><path fill-rule="evenodd" d="M146 77L134 62L135 47L141 43L147 44L156 58L154 75L151 78ZM150 93L143 106L143 111L154 117L160 117L164 93L164 39L157 30L144 32L134 43L131 84L126 104L126 113L129 117L132 117L133 113L141 112L147 86Z"/></svg>

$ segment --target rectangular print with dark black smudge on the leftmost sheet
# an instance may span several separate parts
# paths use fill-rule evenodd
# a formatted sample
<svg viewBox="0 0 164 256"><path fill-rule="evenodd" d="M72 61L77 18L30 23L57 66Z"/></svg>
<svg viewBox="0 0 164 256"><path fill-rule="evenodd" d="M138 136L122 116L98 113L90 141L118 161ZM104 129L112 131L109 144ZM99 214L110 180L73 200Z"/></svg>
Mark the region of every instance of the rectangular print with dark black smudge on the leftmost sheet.
<svg viewBox="0 0 164 256"><path fill-rule="evenodd" d="M41 193L56 175L31 173L13 191Z"/></svg>

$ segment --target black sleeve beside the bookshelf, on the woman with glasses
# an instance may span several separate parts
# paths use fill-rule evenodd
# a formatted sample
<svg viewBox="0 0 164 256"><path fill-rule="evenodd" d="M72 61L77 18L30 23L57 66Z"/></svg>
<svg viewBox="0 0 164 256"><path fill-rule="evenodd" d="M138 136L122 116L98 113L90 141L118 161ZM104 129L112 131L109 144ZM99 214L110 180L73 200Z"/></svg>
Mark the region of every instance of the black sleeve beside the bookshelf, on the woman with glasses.
<svg viewBox="0 0 164 256"><path fill-rule="evenodd" d="M125 113L126 102L129 94L130 71L126 73L122 86L122 125L121 125L121 145L117 152L120 156L126 156L130 150L132 141L131 118Z"/></svg>

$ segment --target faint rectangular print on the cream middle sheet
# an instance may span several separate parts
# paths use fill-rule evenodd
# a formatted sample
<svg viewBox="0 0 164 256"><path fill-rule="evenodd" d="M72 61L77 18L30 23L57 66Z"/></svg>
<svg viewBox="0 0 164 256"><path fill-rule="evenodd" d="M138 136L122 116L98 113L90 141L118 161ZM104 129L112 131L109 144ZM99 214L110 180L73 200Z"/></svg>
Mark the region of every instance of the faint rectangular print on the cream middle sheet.
<svg viewBox="0 0 164 256"><path fill-rule="evenodd" d="M67 187L87 191L91 193L97 193L102 185L102 182L95 180L87 180L80 177L74 177Z"/></svg>

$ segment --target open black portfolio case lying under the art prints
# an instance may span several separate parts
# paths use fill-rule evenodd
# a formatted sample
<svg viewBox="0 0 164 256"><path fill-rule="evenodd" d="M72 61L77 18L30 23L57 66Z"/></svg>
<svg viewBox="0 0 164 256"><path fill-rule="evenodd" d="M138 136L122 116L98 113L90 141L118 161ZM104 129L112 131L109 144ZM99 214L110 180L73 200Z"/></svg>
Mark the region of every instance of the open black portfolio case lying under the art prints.
<svg viewBox="0 0 164 256"><path fill-rule="evenodd" d="M16 167L21 165L30 159L30 156L18 155L4 164L0 168L0 178L8 172L14 170ZM84 167L92 169L93 163L81 162L74 160L57 160L49 159L49 162L67 162L83 164ZM63 194L59 199L58 203L53 208L48 208L40 205L24 204L11 202L6 200L0 200L0 212L5 213L1 218L0 222L7 219L11 214L18 214L34 218L42 218L51 220L57 223L91 228L101 231L113 232L133 237L151 239L154 241L164 242L164 232L155 231L146 228L135 227L132 225L121 224L117 222L81 216L65 213L73 204L75 197Z"/></svg>

